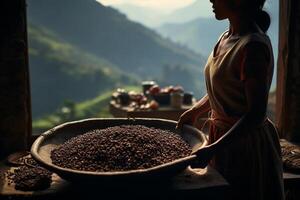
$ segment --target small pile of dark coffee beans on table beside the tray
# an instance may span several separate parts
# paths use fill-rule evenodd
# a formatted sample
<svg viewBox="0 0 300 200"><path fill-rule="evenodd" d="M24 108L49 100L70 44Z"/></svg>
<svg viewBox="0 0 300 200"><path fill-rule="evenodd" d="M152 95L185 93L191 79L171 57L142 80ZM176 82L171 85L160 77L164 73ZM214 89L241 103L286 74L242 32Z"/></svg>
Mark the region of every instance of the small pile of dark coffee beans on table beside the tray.
<svg viewBox="0 0 300 200"><path fill-rule="evenodd" d="M22 191L47 189L52 182L52 172L39 166L31 157L24 158L24 163L25 165L7 172L9 185L14 183L15 189Z"/></svg>

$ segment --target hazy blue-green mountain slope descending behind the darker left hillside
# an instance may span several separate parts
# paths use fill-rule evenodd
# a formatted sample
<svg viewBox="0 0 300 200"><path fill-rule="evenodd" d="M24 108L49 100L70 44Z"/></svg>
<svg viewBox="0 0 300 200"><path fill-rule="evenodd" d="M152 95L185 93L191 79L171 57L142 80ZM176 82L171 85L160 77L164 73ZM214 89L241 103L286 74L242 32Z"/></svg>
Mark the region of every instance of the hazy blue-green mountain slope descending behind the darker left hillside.
<svg viewBox="0 0 300 200"><path fill-rule="evenodd" d="M28 16L63 40L141 77L160 75L165 64L196 70L204 63L201 55L95 0L28 0Z"/></svg>

